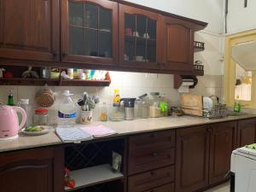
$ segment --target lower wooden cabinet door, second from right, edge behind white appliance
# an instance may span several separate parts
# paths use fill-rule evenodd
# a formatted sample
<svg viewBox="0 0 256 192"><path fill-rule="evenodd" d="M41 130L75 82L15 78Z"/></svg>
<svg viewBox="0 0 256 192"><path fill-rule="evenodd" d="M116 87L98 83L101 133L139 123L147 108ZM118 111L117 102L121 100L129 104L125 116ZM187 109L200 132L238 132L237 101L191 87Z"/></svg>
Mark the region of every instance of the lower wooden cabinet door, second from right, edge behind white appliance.
<svg viewBox="0 0 256 192"><path fill-rule="evenodd" d="M230 157L236 148L236 121L211 125L209 183L225 180L230 171Z"/></svg>

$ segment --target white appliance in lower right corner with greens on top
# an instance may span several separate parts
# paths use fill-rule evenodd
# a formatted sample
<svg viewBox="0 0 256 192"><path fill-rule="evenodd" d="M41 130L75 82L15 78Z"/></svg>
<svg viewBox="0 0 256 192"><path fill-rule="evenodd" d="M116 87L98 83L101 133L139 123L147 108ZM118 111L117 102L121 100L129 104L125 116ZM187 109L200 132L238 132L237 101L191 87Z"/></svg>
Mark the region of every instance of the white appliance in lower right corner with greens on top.
<svg viewBox="0 0 256 192"><path fill-rule="evenodd" d="M230 192L256 192L256 150L237 148L231 155Z"/></svg>

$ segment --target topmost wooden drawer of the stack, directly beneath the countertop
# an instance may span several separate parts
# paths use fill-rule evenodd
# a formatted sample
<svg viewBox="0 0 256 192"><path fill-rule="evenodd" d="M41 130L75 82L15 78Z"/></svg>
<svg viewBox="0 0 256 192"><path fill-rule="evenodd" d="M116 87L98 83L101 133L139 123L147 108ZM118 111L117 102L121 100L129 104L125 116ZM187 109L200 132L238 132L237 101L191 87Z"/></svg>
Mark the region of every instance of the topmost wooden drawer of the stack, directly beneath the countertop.
<svg viewBox="0 0 256 192"><path fill-rule="evenodd" d="M129 137L129 153L175 147L175 131L156 131Z"/></svg>

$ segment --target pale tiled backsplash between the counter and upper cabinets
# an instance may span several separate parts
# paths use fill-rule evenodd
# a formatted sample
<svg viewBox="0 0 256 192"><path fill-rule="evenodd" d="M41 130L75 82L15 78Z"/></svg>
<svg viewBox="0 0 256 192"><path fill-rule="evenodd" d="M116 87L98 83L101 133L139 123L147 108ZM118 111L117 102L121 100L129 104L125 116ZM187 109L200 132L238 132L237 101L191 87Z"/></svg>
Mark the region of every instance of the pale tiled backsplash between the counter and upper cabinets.
<svg viewBox="0 0 256 192"><path fill-rule="evenodd" d="M149 74L149 73L124 73L110 72L112 83L109 87L58 87L49 86L56 93L56 102L49 109L51 114L50 122L56 122L56 109L58 108L58 98L63 90L70 90L74 95L74 100L78 100L81 94L86 91L91 96L98 95L101 102L110 104L113 98L113 89L119 88L121 97L137 97L144 93L158 91L165 93L172 105L177 106L179 103L179 93L173 89L173 75L171 74ZM6 103L9 95L9 90L14 89L15 103L20 99L28 98L34 100L37 91L42 89L39 86L0 86L0 102ZM222 95L222 77L221 76L204 76L199 77L199 84L195 90L190 90L191 93L197 95ZM97 117L97 109L94 117Z"/></svg>

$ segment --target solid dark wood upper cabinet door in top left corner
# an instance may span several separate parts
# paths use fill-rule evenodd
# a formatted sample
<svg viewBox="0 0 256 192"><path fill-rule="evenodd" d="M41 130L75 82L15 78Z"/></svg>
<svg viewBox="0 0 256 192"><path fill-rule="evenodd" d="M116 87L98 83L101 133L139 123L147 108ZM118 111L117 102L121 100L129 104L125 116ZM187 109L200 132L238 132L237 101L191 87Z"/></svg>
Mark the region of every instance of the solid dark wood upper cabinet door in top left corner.
<svg viewBox="0 0 256 192"><path fill-rule="evenodd" d="M59 61L57 0L0 0L0 58Z"/></svg>

